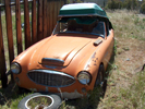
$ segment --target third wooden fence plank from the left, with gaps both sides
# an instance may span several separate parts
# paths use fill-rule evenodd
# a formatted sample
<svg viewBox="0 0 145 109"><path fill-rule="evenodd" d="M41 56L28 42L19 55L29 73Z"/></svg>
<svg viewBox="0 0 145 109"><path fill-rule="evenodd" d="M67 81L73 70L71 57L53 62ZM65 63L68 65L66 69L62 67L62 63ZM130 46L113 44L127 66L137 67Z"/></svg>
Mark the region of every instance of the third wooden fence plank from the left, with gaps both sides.
<svg viewBox="0 0 145 109"><path fill-rule="evenodd" d="M22 49L22 29L21 29L20 0L15 0L15 17L16 17L17 55L20 55L23 51L23 49Z"/></svg>

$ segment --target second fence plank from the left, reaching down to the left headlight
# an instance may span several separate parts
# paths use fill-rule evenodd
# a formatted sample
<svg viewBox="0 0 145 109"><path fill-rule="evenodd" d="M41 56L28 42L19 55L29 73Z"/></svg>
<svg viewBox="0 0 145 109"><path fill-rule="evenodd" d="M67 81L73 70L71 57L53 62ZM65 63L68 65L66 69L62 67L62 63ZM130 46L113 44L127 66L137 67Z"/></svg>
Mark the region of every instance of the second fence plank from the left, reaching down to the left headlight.
<svg viewBox="0 0 145 109"><path fill-rule="evenodd" d="M8 35L8 46L9 46L9 60L10 65L14 59L14 47L13 47L13 34L12 34L12 15L10 0L4 0L5 2L5 20L7 20L7 35ZM13 81L13 74L11 74L11 80Z"/></svg>

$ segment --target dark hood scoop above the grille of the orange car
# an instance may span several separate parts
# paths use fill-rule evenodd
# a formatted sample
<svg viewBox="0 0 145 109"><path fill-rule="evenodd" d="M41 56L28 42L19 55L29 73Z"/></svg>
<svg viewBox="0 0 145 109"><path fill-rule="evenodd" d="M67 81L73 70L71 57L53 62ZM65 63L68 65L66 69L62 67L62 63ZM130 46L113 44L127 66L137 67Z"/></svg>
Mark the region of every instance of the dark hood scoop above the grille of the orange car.
<svg viewBox="0 0 145 109"><path fill-rule="evenodd" d="M53 58L43 58L40 64L63 65L64 61Z"/></svg>

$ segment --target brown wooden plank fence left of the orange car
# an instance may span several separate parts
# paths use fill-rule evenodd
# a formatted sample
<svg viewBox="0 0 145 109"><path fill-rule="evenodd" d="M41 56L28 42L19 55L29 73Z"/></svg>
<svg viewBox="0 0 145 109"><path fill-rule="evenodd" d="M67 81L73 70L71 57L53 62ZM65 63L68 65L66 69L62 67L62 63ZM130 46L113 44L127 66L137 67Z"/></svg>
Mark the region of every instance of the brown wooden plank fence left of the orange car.
<svg viewBox="0 0 145 109"><path fill-rule="evenodd" d="M29 8L28 3L32 3L32 21L29 21ZM24 37L25 49L38 40L51 35L51 32L57 23L60 8L67 3L67 0L15 0L14 3L11 0L4 0L4 4L0 5L0 80L2 87L8 84L7 78L7 65L10 65L14 59L14 43L13 37L16 37L17 55L23 51L22 44L22 27L21 27L21 4L24 5ZM15 7L15 23L16 23L16 36L12 32L12 13L11 7ZM1 8L5 10L7 22L7 37L9 48L9 61L10 64L5 64L4 41L2 35L2 21L1 21ZM32 27L29 25L32 22ZM31 29L32 28L32 29ZM5 37L5 36L4 36ZM11 74L11 78L13 78Z"/></svg>

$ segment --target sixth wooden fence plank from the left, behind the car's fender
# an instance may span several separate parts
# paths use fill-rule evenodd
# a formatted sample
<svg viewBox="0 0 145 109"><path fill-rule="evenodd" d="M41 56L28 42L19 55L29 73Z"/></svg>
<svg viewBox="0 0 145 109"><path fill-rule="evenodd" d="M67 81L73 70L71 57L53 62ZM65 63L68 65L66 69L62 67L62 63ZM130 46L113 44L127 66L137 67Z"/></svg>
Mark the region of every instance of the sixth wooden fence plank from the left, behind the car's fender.
<svg viewBox="0 0 145 109"><path fill-rule="evenodd" d="M43 0L38 0L37 39L43 39Z"/></svg>

